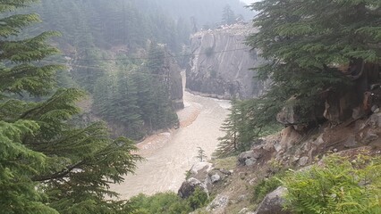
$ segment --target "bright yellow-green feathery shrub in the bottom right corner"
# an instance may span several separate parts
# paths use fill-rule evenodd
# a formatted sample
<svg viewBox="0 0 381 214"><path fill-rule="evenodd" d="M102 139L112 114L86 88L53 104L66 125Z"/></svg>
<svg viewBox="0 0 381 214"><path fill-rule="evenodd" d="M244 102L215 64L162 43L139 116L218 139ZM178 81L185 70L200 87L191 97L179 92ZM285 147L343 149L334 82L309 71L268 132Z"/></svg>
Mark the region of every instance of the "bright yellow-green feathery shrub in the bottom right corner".
<svg viewBox="0 0 381 214"><path fill-rule="evenodd" d="M331 155L323 166L289 173L286 206L294 213L381 213L381 158Z"/></svg>

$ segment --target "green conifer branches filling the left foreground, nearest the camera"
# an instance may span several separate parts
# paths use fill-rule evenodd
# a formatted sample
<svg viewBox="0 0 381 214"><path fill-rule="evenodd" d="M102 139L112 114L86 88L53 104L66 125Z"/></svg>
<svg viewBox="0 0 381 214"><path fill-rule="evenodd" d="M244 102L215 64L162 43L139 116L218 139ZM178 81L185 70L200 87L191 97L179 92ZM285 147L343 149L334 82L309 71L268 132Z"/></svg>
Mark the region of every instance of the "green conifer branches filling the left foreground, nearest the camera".
<svg viewBox="0 0 381 214"><path fill-rule="evenodd" d="M117 213L123 202L109 184L123 181L140 157L131 140L111 139L105 124L74 124L77 89L53 90L57 53L46 32L17 37L37 14L7 13L34 0L1 0L0 12L0 210L2 213ZM53 93L53 95L52 95ZM22 95L46 96L29 102Z"/></svg>

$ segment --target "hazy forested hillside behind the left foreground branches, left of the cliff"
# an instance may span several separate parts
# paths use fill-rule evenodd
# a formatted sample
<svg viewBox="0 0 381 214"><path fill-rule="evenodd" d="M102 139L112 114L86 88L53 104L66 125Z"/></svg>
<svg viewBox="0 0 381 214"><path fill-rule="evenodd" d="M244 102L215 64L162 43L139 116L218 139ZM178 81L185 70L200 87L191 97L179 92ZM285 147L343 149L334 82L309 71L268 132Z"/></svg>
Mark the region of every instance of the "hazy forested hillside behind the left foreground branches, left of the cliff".
<svg viewBox="0 0 381 214"><path fill-rule="evenodd" d="M21 12L37 12L42 20L26 31L27 36L44 30L62 34L53 41L63 56L54 61L68 66L70 72L59 72L60 86L82 87L92 95L91 113L106 119L115 133L140 139L177 123L173 100L182 99L181 70L173 65L185 65L188 59L170 56L169 62L164 58L189 54L184 45L192 28L222 21L228 4L232 12L249 11L238 0L43 0ZM169 67L172 70L166 70Z"/></svg>

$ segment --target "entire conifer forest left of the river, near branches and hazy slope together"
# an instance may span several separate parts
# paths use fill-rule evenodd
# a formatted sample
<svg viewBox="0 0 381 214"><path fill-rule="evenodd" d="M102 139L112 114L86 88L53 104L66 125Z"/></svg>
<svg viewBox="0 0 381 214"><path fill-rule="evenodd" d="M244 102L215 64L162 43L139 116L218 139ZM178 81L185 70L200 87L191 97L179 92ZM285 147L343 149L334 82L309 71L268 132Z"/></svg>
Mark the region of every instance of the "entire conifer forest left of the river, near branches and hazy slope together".
<svg viewBox="0 0 381 214"><path fill-rule="evenodd" d="M0 0L0 210L130 213L109 187L141 161L135 143L77 104L133 139L173 127L167 55L190 21L134 1L36 3Z"/></svg>

